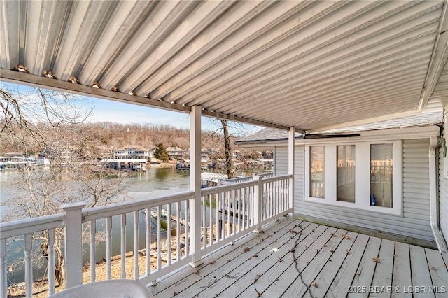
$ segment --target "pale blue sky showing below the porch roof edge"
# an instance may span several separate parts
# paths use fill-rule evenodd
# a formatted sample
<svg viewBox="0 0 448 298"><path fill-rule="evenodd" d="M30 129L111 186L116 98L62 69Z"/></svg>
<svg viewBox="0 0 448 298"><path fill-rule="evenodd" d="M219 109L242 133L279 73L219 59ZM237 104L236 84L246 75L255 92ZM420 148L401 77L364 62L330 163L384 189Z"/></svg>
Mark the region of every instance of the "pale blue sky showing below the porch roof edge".
<svg viewBox="0 0 448 298"><path fill-rule="evenodd" d="M32 87L13 83L0 82L3 87L12 92L32 93ZM116 122L121 124L148 124L148 125L172 125L178 128L190 128L190 114L175 111L168 111L161 108L150 108L136 104L126 104L120 101L98 99L76 95L77 100L73 101L80 111L88 113L92 111L87 119L90 122ZM217 121L211 118L202 117L202 129L212 130L221 127ZM242 125L245 134L256 132L262 127L255 125ZM230 125L230 131L235 132Z"/></svg>

